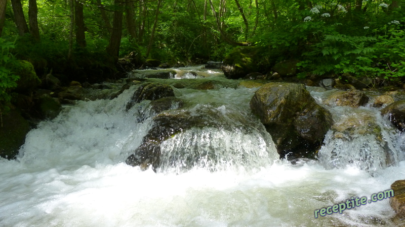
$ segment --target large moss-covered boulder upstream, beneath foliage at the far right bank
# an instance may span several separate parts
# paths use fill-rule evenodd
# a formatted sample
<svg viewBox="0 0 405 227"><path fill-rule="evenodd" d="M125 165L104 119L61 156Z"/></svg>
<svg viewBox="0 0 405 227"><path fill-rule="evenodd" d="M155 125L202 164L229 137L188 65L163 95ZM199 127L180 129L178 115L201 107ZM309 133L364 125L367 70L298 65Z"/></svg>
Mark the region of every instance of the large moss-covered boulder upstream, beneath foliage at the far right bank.
<svg viewBox="0 0 405 227"><path fill-rule="evenodd" d="M257 46L239 46L229 52L222 64L222 71L228 79L244 78L246 75L263 71L259 66L260 48ZM266 73L266 72L261 72Z"/></svg>

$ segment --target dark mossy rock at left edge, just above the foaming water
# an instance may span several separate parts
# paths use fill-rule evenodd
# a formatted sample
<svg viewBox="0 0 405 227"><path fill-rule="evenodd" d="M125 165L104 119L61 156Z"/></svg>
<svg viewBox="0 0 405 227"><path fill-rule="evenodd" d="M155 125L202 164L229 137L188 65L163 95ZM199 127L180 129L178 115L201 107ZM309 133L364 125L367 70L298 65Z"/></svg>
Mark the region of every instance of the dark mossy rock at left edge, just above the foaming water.
<svg viewBox="0 0 405 227"><path fill-rule="evenodd" d="M0 124L0 156L8 159L14 158L25 142L29 132L29 124L19 111L3 112L3 126Z"/></svg>

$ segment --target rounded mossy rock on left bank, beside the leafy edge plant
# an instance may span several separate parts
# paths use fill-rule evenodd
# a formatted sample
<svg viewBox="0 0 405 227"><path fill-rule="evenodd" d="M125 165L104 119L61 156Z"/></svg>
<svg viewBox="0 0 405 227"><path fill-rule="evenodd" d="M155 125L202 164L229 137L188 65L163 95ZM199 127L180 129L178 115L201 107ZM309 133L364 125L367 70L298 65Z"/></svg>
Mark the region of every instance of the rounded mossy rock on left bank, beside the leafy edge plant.
<svg viewBox="0 0 405 227"><path fill-rule="evenodd" d="M20 77L17 80L17 87L15 88L15 91L18 93L30 92L41 84L41 80L36 76L34 67L30 62L18 61L18 64L13 67L12 72Z"/></svg>

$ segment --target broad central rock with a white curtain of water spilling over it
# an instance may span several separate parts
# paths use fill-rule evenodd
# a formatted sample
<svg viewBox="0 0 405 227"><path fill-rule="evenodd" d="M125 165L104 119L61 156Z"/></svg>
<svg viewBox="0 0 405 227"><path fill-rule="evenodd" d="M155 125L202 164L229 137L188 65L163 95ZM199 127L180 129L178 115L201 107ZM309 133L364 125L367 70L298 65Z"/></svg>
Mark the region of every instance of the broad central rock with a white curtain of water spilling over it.
<svg viewBox="0 0 405 227"><path fill-rule="evenodd" d="M226 113L224 114L224 112ZM267 152L260 153L255 150L250 153L248 152L249 147L242 150L230 147L231 151L223 152L225 148L219 148L214 143L216 140L223 141L222 138L215 138L217 129L222 131L218 131L220 133L227 131L250 134L256 130L253 125L257 125L257 123L254 119L240 115L238 111L227 112L225 106L198 104L191 109L163 111L153 118L153 127L143 138L142 144L127 158L126 163L140 166L142 169L152 165L156 171L163 159L165 159L166 165L184 169L190 169L194 165L209 165L206 167L215 169L217 167L215 163L218 161L232 163L239 159L242 160L240 162L248 164L260 156L263 156L266 161L271 160ZM263 132L265 133L264 130ZM165 158L163 158L161 144L182 133L190 133L192 137L187 137L186 144L180 145L176 149L169 149L171 153L165 154ZM238 142L240 143L240 141ZM251 146L253 142L251 141L248 145ZM225 153L224 156L220 155L222 152Z"/></svg>

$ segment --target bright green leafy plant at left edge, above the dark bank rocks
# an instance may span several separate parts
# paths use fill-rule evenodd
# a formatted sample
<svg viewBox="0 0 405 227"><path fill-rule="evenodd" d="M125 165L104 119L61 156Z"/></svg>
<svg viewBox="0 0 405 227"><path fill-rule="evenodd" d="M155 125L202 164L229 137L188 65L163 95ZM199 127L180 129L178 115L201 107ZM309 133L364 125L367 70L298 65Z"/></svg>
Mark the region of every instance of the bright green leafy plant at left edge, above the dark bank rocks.
<svg viewBox="0 0 405 227"><path fill-rule="evenodd" d="M2 54L0 55L0 111L5 108L5 104L10 101L10 89L17 86L16 81L19 79L12 72L13 65L16 63L13 54L10 50L14 48L14 43L5 41L0 38L0 47Z"/></svg>

